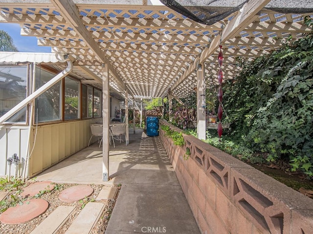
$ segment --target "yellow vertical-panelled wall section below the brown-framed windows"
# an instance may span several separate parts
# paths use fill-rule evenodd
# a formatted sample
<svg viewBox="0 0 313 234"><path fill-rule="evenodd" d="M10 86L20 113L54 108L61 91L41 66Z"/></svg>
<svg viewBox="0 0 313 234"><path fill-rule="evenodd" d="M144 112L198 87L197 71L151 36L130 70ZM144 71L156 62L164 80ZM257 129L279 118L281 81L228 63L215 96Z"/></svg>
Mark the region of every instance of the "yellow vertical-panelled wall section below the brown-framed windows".
<svg viewBox="0 0 313 234"><path fill-rule="evenodd" d="M41 125L38 126L36 139L34 127L31 142L35 142L35 147L29 160L29 176L86 148L91 137L90 124L95 121L89 119Z"/></svg>

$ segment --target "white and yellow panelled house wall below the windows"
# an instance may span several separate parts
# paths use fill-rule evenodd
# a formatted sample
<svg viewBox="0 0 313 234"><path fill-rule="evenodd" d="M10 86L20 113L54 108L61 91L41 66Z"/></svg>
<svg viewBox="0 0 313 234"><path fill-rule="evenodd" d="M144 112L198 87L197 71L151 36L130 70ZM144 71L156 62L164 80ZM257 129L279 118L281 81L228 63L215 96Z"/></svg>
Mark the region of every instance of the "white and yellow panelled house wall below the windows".
<svg viewBox="0 0 313 234"><path fill-rule="evenodd" d="M34 176L87 147L91 137L90 124L96 121L97 119L66 121L39 125L37 129L33 126L30 137L32 155L27 165L26 177ZM0 126L0 176L9 174L7 158L13 154L17 154L19 158L22 156L22 160L17 168L15 165L11 166L10 174L22 176L28 130L27 126ZM93 141L96 140L93 137Z"/></svg>

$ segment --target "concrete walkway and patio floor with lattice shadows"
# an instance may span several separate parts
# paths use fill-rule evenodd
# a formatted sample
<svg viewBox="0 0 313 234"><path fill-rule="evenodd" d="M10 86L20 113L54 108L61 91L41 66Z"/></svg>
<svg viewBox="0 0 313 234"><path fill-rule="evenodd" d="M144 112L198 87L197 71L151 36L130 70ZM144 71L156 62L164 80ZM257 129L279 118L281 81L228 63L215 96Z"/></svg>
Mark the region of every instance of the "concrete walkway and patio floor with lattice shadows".
<svg viewBox="0 0 313 234"><path fill-rule="evenodd" d="M37 176L63 183L122 184L105 234L200 234L158 137L130 129L130 144L110 148L110 181L103 182L102 151L90 147Z"/></svg>

